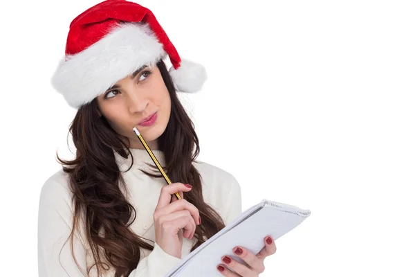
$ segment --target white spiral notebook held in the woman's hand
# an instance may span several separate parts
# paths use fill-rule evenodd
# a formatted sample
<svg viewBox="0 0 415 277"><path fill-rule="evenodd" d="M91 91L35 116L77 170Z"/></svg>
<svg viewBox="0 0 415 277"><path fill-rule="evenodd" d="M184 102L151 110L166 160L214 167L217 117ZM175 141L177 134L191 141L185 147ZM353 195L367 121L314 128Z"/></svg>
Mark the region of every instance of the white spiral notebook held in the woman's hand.
<svg viewBox="0 0 415 277"><path fill-rule="evenodd" d="M223 276L216 271L216 266L223 264L221 257L224 255L246 265L232 253L234 247L240 245L253 253L259 253L264 247L266 235L277 240L309 215L309 210L263 199L183 258L165 277Z"/></svg>

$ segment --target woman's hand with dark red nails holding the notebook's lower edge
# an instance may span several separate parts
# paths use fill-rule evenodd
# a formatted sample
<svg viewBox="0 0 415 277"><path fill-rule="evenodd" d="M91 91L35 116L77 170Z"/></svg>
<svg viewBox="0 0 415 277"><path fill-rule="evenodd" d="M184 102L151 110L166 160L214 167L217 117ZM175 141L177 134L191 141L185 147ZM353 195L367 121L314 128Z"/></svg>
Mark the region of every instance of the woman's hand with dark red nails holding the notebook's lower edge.
<svg viewBox="0 0 415 277"><path fill-rule="evenodd" d="M269 243L270 242L270 243ZM245 261L248 266L242 265L240 262L233 260L229 256L223 256L223 264L218 265L216 269L223 275L229 277L257 277L264 272L264 260L266 257L273 255L277 251L275 242L270 236L264 238L265 247L255 255L251 251L243 247L234 247L233 253ZM232 269L236 274L229 269ZM223 270L221 270L223 269Z"/></svg>

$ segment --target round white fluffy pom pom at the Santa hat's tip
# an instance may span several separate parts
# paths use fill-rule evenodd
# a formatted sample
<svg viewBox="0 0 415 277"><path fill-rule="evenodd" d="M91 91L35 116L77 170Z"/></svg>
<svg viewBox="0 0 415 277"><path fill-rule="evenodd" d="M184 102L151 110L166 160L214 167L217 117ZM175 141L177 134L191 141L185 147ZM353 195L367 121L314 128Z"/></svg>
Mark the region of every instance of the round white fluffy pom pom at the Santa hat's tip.
<svg viewBox="0 0 415 277"><path fill-rule="evenodd" d="M207 79L205 67L190 60L181 60L178 69L169 69L172 80L178 91L194 93L202 89Z"/></svg>

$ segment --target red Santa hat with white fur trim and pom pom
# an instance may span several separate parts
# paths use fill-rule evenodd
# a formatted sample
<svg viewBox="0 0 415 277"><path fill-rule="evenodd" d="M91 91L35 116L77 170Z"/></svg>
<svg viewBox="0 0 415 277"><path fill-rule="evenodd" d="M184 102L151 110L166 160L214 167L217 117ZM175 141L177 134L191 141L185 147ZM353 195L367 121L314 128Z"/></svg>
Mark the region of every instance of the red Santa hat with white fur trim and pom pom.
<svg viewBox="0 0 415 277"><path fill-rule="evenodd" d="M182 60L151 10L125 0L89 8L69 26L65 56L52 85L74 108L91 102L141 66L169 57L176 90L199 91L206 80L201 64Z"/></svg>

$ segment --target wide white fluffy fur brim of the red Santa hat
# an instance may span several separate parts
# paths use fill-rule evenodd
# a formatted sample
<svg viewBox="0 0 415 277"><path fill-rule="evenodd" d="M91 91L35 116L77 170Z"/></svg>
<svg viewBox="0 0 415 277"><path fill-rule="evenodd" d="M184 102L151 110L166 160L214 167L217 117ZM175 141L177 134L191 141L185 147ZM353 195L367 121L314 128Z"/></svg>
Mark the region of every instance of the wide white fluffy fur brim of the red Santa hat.
<svg viewBox="0 0 415 277"><path fill-rule="evenodd" d="M147 24L120 24L89 48L62 59L52 86L78 108L140 66L155 64L166 55Z"/></svg>

